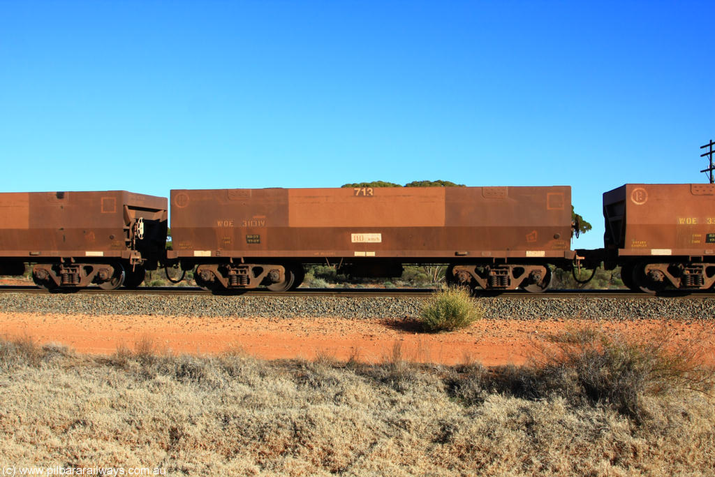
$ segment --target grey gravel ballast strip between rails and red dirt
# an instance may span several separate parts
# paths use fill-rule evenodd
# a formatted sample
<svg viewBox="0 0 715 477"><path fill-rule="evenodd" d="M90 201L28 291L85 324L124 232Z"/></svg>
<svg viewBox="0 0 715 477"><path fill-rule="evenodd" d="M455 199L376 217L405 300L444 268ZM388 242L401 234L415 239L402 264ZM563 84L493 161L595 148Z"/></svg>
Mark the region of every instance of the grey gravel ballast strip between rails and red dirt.
<svg viewBox="0 0 715 477"><path fill-rule="evenodd" d="M412 318L419 314L424 300L418 297L160 297L141 294L90 296L8 293L0 295L0 312L196 317ZM485 310L485 318L715 318L715 297L482 297L477 301Z"/></svg>

